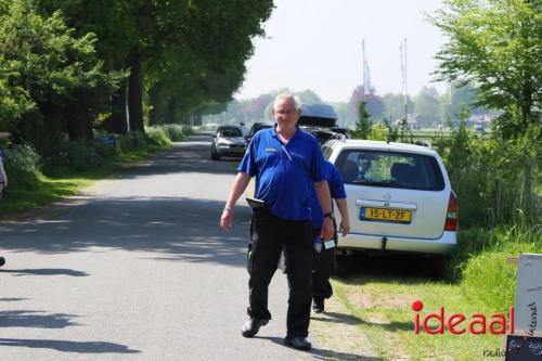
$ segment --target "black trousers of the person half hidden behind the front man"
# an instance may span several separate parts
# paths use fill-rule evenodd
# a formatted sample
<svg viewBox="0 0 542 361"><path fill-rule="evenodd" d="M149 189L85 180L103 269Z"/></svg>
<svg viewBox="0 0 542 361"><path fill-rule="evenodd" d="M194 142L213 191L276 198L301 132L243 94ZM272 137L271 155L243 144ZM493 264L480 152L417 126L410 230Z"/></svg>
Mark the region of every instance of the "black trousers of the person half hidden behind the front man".
<svg viewBox="0 0 542 361"><path fill-rule="evenodd" d="M335 222L334 222L335 223ZM312 230L312 235L315 237L320 235L319 230ZM335 247L325 249L322 244L322 250L315 253L315 267L312 272L312 297L315 300L324 300L333 296L333 287L330 283L330 276L335 272L335 249L337 247L337 233L333 235Z"/></svg>

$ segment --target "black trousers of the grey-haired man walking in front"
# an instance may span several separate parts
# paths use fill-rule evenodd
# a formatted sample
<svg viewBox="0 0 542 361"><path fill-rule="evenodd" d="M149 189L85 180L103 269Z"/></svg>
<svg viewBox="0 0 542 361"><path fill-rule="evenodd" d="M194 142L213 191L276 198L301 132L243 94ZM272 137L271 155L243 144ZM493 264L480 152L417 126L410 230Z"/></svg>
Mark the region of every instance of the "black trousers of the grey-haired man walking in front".
<svg viewBox="0 0 542 361"><path fill-rule="evenodd" d="M254 209L253 222L247 313L255 319L271 319L268 289L284 246L289 288L286 337L307 337L312 297L311 222L282 219L258 208Z"/></svg>

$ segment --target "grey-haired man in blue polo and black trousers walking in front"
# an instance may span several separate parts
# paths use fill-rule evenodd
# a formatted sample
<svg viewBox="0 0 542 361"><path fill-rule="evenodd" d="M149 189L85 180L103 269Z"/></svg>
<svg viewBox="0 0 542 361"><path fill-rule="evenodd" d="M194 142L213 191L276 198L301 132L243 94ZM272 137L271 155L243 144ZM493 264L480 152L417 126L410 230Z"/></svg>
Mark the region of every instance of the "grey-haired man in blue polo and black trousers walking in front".
<svg viewBox="0 0 542 361"><path fill-rule="evenodd" d="M283 93L275 98L273 116L276 125L260 130L250 141L238 166L220 227L224 230L232 227L235 202L245 191L250 177L256 177L255 197L264 204L253 207L249 320L243 325L242 334L253 337L271 320L268 287L284 246L289 286L284 344L308 350L311 348L307 336L313 260L311 185L325 216L322 238L330 240L334 227L324 158L318 141L297 126L299 115L300 104L294 95Z"/></svg>

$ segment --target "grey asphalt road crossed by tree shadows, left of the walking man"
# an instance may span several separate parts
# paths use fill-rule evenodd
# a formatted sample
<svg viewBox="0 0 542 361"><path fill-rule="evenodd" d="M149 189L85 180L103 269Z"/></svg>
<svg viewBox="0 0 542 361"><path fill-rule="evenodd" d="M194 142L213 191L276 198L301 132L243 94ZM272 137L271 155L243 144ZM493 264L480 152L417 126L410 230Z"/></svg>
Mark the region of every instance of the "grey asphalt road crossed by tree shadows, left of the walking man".
<svg viewBox="0 0 542 361"><path fill-rule="evenodd" d="M0 222L0 360L308 360L282 345L287 284L254 339L246 319L250 210L219 217L236 163L195 136L38 219Z"/></svg>

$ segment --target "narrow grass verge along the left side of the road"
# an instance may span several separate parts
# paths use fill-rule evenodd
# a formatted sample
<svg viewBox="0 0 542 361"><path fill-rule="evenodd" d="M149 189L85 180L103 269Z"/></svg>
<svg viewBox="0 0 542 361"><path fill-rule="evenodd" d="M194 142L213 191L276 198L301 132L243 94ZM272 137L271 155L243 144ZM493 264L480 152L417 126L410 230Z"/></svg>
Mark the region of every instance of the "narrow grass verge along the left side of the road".
<svg viewBox="0 0 542 361"><path fill-rule="evenodd" d="M147 159L155 153L163 152L171 145L151 145L122 152L103 163L101 166L85 170L54 169L48 176L38 176L38 186L33 190L12 186L8 196L0 201L0 215L26 211L59 202L75 195L83 188L100 179L129 169L130 163Z"/></svg>

